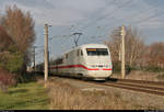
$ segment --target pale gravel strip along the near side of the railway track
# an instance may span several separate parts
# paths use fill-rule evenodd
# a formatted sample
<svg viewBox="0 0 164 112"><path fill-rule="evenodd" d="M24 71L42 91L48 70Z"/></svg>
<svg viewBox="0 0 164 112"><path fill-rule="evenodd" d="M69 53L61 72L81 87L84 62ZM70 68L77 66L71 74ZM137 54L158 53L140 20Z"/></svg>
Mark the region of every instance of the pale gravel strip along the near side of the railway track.
<svg viewBox="0 0 164 112"><path fill-rule="evenodd" d="M105 91L108 93L114 93L119 99L124 101L130 102L138 107L138 109L155 109L155 110L164 110L164 97L137 92L132 90L119 89L114 87L104 87L98 85L89 83L87 81L79 81L74 79L62 79L57 78L58 80L62 80L62 82L69 83L75 88L81 89L82 91Z"/></svg>

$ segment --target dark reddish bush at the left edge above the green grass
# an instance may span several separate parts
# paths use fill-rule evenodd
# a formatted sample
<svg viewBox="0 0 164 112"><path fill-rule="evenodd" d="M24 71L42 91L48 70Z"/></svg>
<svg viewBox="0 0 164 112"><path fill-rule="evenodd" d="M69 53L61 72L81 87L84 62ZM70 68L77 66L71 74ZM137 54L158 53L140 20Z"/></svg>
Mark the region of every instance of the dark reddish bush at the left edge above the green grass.
<svg viewBox="0 0 164 112"><path fill-rule="evenodd" d="M16 86L15 75L0 68L0 89L7 92L11 86Z"/></svg>

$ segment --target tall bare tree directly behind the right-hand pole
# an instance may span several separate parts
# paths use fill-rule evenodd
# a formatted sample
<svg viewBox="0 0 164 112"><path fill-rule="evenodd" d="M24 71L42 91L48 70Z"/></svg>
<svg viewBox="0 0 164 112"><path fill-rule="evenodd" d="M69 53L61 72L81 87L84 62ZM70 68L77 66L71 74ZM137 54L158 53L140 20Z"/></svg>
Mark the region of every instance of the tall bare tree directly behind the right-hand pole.
<svg viewBox="0 0 164 112"><path fill-rule="evenodd" d="M118 61L119 56L121 55L121 27L117 27L113 31L109 41L106 44L112 51L113 61ZM139 63L140 57L144 48L143 40L141 40L141 34L137 29L131 29L131 26L126 27L126 64L129 66L136 65Z"/></svg>

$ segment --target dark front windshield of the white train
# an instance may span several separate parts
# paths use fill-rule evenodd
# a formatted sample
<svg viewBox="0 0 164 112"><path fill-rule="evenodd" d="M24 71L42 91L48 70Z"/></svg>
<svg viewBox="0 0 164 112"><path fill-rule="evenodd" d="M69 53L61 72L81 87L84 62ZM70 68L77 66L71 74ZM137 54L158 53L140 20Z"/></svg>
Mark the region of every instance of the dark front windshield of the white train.
<svg viewBox="0 0 164 112"><path fill-rule="evenodd" d="M86 48L87 56L107 56L107 48Z"/></svg>

